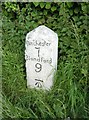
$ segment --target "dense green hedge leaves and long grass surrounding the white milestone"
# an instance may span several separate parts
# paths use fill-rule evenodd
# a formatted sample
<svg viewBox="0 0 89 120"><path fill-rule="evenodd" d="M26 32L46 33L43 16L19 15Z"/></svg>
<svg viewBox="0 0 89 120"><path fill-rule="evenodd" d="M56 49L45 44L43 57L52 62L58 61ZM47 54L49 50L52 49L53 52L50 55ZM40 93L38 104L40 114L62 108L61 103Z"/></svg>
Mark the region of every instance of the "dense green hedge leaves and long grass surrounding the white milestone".
<svg viewBox="0 0 89 120"><path fill-rule="evenodd" d="M89 3L2 3L4 118L89 118ZM50 91L28 89L25 36L39 25L58 34L58 68Z"/></svg>

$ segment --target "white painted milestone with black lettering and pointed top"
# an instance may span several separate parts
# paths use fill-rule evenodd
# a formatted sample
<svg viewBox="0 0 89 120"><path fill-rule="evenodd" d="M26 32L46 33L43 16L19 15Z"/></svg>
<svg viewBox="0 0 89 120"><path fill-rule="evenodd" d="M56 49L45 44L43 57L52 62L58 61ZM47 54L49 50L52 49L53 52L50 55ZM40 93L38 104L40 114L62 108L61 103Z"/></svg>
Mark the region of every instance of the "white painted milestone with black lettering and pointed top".
<svg viewBox="0 0 89 120"><path fill-rule="evenodd" d="M57 69L57 34L41 25L27 34L25 48L27 86L49 90Z"/></svg>

